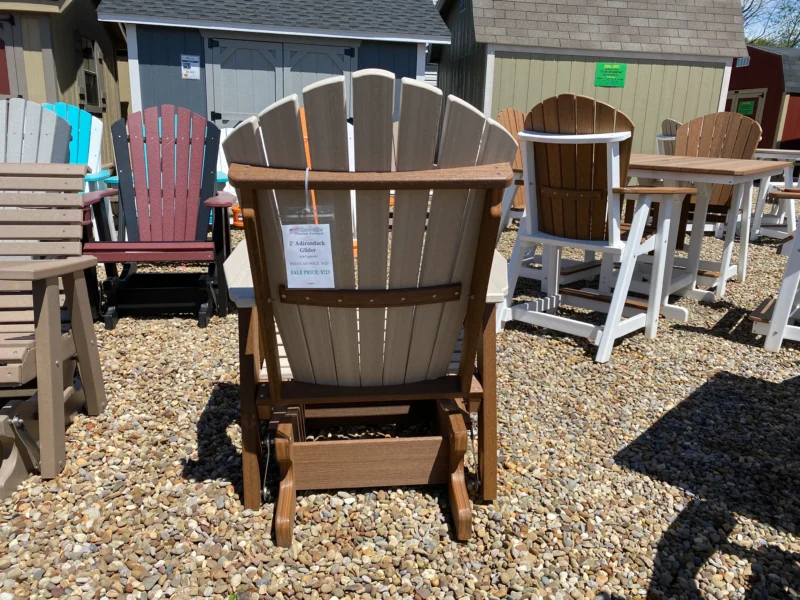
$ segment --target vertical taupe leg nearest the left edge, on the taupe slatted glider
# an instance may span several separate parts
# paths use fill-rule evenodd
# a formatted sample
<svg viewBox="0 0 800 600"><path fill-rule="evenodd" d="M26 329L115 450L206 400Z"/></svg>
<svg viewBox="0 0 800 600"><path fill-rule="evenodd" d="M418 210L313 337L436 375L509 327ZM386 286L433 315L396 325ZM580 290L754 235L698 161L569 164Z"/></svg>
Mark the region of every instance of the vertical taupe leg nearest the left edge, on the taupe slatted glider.
<svg viewBox="0 0 800 600"><path fill-rule="evenodd" d="M81 277L83 277L83 273L81 273ZM88 305L86 308L88 310ZM64 447L64 365L59 356L61 349L61 309L58 302L57 277L49 277L33 282L33 315L36 342L36 381L39 400L41 474L45 479L53 479L61 473L66 462L66 449Z"/></svg>

